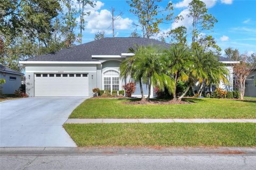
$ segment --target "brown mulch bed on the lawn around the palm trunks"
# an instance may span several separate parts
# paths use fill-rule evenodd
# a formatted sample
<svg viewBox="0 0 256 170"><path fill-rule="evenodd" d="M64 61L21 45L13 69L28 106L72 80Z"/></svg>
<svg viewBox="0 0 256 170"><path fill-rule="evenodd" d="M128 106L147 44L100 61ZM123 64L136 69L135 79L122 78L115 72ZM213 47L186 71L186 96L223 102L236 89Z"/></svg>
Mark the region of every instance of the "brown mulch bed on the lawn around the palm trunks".
<svg viewBox="0 0 256 170"><path fill-rule="evenodd" d="M180 100L167 100L167 101L125 101L123 102L127 105L170 105L170 104L193 104L188 101L180 101Z"/></svg>

